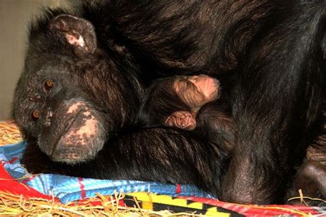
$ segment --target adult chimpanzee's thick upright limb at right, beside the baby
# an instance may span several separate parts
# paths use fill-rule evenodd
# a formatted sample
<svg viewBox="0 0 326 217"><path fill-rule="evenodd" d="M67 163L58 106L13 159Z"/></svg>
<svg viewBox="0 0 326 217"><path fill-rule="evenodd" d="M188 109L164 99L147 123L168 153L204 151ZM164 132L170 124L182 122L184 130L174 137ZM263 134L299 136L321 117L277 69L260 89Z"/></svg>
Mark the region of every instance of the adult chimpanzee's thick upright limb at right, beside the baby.
<svg viewBox="0 0 326 217"><path fill-rule="evenodd" d="M275 14L279 25L251 45L232 102L237 129L222 183L226 201L278 203L285 195L320 111L325 7L303 3Z"/></svg>

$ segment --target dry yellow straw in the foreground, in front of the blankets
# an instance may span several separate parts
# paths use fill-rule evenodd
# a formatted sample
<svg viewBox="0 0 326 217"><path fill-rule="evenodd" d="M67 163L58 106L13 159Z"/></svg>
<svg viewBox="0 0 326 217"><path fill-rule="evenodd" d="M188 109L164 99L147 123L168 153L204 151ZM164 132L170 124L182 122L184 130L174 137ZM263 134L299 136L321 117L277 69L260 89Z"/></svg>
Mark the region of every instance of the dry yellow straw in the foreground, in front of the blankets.
<svg viewBox="0 0 326 217"><path fill-rule="evenodd" d="M88 198L67 204L43 198L24 198L23 196L0 192L0 215L8 216L199 216L190 213L172 213L168 210L155 212L141 209L136 198L135 207L122 207L119 201L123 193L114 196Z"/></svg>

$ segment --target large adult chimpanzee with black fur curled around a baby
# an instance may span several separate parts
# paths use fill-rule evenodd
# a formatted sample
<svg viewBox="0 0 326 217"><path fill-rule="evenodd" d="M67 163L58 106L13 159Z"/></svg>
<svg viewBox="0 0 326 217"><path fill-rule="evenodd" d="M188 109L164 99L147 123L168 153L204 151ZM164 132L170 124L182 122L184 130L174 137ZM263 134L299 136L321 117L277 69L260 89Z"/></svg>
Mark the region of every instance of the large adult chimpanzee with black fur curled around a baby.
<svg viewBox="0 0 326 217"><path fill-rule="evenodd" d="M45 13L30 30L25 69L15 94L14 116L25 136L34 141L24 155L25 163L30 163L30 170L47 171L52 161L69 168L67 163L110 155L114 165L96 168L106 178L174 182L186 172L186 183L205 185L204 189L219 185L216 146L203 150L198 140L189 141L179 132L168 135L162 129L131 134L122 130L137 109L139 82L148 84L164 72L204 71L228 84L225 91L235 121L234 155L221 184L222 198L280 202L294 166L319 133L325 99L325 4L100 1L83 3L78 12ZM47 80L52 82L44 86ZM58 89L47 91L52 83ZM74 88L68 89L72 84ZM113 137L119 142L111 142ZM140 149L134 150L130 141ZM156 147L149 141L157 142L150 144ZM182 150L177 151L179 141ZM188 145L193 143L197 145ZM157 147L165 147L169 155ZM52 161L31 163L39 155L44 157L39 149ZM114 156L122 153L127 160ZM167 156L177 159L165 161ZM144 159L155 165L144 167ZM175 164L170 163L182 172L171 173ZM87 162L84 165L87 168ZM199 180L197 174L208 178Z"/></svg>

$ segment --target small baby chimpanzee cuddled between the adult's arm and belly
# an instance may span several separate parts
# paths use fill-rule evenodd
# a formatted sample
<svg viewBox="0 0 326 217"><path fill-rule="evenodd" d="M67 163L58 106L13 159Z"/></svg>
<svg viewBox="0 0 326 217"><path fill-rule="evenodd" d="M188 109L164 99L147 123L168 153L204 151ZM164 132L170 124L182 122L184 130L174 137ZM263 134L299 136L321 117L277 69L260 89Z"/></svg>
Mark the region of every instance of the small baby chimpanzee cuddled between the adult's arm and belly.
<svg viewBox="0 0 326 217"><path fill-rule="evenodd" d="M197 130L230 151L233 120L226 100L220 97L219 80L206 75L161 78L147 89L138 122Z"/></svg>

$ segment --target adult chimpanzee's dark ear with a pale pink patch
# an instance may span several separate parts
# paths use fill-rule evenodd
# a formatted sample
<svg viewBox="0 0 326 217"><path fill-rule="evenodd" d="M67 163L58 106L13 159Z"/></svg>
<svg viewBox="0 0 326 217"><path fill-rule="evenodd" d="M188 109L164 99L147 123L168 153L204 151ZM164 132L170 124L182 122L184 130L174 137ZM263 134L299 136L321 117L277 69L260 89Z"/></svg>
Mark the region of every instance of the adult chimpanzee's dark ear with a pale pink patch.
<svg viewBox="0 0 326 217"><path fill-rule="evenodd" d="M81 51L87 54L95 52L96 33L91 22L77 16L62 14L54 17L48 27L52 31L61 32L77 52Z"/></svg>

